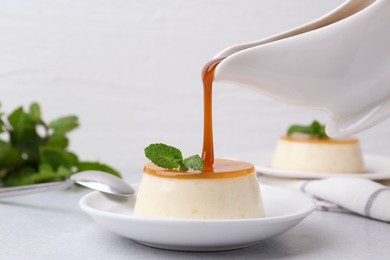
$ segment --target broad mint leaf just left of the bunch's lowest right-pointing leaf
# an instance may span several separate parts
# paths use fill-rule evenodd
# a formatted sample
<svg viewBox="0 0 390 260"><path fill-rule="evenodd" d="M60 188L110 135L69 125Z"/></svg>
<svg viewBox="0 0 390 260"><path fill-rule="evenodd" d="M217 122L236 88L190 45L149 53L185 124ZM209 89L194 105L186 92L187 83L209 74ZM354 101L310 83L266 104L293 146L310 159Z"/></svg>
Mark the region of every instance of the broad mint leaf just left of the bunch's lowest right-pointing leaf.
<svg viewBox="0 0 390 260"><path fill-rule="evenodd" d="M41 162L50 165L54 170L57 170L60 165L71 169L77 166L78 159L73 153L64 151L57 147L45 146L40 148Z"/></svg>

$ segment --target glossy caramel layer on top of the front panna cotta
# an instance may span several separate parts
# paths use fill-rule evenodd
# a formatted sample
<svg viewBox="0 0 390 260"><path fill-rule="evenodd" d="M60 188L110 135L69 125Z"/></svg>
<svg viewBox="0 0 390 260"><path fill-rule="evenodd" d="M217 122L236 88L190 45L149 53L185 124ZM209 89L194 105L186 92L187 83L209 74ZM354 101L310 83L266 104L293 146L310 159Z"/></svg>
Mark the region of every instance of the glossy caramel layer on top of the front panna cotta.
<svg viewBox="0 0 390 260"><path fill-rule="evenodd" d="M216 159L212 171L188 171L166 170L153 163L147 163L144 172L164 178L172 179L229 179L249 175L255 172L252 164L241 161Z"/></svg>

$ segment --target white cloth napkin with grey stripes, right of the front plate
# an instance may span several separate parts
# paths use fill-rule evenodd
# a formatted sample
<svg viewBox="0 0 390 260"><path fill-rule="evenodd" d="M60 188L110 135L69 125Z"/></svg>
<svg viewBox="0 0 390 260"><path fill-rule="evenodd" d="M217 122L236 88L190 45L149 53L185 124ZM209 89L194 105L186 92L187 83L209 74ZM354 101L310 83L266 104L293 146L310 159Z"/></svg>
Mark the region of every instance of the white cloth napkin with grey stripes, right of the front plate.
<svg viewBox="0 0 390 260"><path fill-rule="evenodd" d="M353 212L390 222L390 187L364 178L284 180L260 176L260 182L300 190L316 199L317 210ZM264 181L263 181L264 180Z"/></svg>

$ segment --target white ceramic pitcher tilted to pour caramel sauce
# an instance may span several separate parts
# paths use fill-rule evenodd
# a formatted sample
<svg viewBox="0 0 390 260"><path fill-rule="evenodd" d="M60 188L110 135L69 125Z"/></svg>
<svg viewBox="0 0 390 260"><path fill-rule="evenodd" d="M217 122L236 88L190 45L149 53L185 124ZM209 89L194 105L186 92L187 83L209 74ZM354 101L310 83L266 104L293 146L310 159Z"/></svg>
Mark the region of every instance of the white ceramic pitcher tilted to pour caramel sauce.
<svg viewBox="0 0 390 260"><path fill-rule="evenodd" d="M323 110L330 136L390 117L390 0L350 0L314 22L229 47L219 57L227 58L215 81Z"/></svg>

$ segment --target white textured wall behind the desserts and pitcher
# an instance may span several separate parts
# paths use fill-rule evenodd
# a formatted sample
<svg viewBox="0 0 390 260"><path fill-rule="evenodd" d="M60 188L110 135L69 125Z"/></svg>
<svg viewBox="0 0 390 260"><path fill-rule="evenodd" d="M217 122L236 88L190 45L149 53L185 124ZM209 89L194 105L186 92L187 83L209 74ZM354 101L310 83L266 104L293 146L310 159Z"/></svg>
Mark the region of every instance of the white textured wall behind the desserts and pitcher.
<svg viewBox="0 0 390 260"><path fill-rule="evenodd" d="M3 110L38 101L77 114L72 150L126 171L143 148L202 149L202 66L225 47L288 30L342 0L0 0ZM291 123L325 119L238 86L214 88L216 155L272 151ZM360 134L390 155L390 122Z"/></svg>

